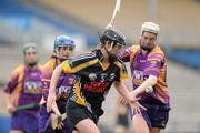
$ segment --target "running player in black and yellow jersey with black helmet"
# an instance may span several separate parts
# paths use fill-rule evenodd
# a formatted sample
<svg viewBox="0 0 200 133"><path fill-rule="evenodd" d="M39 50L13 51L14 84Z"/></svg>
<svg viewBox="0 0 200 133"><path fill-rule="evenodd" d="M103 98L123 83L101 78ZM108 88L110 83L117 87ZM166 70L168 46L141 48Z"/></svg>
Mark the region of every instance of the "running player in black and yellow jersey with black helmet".
<svg viewBox="0 0 200 133"><path fill-rule="evenodd" d="M124 35L116 29L107 29L100 37L99 49L64 61L53 72L47 110L54 104L54 88L62 72L73 73L74 89L67 104L67 116L71 127L79 133L100 133L97 127L103 114L102 102L114 83L117 91L129 101L137 113L141 106L122 84L128 76L123 62L116 55L124 43Z"/></svg>

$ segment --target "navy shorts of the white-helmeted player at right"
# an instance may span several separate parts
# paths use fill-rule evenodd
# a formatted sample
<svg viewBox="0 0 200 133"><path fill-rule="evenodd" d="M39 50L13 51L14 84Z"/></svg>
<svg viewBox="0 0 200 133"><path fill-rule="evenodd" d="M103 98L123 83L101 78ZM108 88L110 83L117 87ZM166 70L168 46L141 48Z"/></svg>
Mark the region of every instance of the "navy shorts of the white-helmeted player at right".
<svg viewBox="0 0 200 133"><path fill-rule="evenodd" d="M143 105L147 111L142 110L142 116L146 120L149 127L158 127L164 129L168 119L170 106L164 104L149 104L149 103L140 103ZM134 115L134 112L130 110L131 119Z"/></svg>

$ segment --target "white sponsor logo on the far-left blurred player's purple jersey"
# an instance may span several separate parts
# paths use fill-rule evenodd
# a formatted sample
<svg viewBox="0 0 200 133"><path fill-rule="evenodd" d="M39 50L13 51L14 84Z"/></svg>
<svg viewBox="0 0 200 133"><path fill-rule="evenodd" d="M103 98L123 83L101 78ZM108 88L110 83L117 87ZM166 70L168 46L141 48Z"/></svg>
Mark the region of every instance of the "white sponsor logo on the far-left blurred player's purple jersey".
<svg viewBox="0 0 200 133"><path fill-rule="evenodd" d="M26 93L40 93L42 88L42 82L37 81L26 81L24 92Z"/></svg>

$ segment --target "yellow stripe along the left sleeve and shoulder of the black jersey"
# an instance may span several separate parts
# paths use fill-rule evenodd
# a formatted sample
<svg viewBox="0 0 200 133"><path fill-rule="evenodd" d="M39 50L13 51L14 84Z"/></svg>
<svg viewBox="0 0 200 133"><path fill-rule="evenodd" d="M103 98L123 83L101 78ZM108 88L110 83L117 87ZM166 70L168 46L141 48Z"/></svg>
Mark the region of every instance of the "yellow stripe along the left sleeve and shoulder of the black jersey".
<svg viewBox="0 0 200 133"><path fill-rule="evenodd" d="M94 59L94 60L88 61L86 63L82 63L80 65L77 65L76 68L71 68L69 65L68 61L64 61L62 63L62 68L63 68L64 73L76 73L84 68L96 64L98 61L99 61L98 59Z"/></svg>

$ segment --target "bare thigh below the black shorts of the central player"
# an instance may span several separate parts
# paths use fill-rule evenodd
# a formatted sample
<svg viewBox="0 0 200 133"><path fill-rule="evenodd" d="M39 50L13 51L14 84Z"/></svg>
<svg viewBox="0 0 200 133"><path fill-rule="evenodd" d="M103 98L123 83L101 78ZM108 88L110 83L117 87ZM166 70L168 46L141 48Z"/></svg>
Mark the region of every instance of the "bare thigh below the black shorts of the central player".
<svg viewBox="0 0 200 133"><path fill-rule="evenodd" d="M98 126L91 119L84 119L76 124L76 129L79 133L100 133Z"/></svg>

